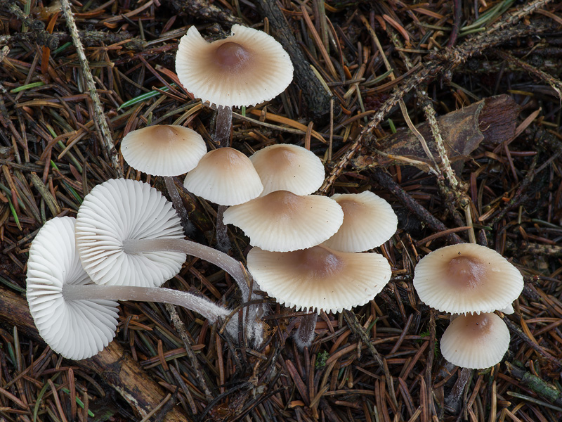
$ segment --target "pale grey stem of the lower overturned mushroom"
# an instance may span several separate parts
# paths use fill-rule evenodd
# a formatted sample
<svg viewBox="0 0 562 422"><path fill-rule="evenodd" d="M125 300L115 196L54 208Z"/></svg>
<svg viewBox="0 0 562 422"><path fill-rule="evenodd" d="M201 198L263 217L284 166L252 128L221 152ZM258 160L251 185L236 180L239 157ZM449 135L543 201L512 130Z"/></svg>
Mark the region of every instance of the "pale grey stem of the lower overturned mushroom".
<svg viewBox="0 0 562 422"><path fill-rule="evenodd" d="M200 298L192 293L181 292L159 287L107 286L97 284L65 284L63 285L65 300L136 300L140 302L162 302L185 307L202 314L211 324L221 317L226 319L230 310L220 307L210 300ZM237 319L228 321L227 331L236 338Z"/></svg>

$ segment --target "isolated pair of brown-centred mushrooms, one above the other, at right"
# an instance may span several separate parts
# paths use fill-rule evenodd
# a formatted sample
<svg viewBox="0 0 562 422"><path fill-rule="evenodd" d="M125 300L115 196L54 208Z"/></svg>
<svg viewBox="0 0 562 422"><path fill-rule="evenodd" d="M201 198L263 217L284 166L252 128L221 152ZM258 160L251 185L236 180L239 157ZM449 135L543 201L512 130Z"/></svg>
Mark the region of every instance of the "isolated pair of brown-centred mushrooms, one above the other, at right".
<svg viewBox="0 0 562 422"><path fill-rule="evenodd" d="M513 264L485 246L445 246L419 261L414 288L426 305L458 314L441 338L447 361L483 369L502 360L509 347L509 330L493 312L513 312L511 302L523 290L523 276Z"/></svg>

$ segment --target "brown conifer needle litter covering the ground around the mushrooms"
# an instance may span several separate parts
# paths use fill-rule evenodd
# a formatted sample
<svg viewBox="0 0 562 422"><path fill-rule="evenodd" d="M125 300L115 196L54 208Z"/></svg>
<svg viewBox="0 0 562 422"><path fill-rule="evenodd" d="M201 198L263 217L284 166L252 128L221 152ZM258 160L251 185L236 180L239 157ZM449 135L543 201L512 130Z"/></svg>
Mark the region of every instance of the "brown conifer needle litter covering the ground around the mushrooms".
<svg viewBox="0 0 562 422"><path fill-rule="evenodd" d="M37 421L561 420L556 2L503 10L508 2L478 1L474 10L457 0L72 1L93 91L63 15L45 0L28 2L27 13L25 3L0 0L1 420L33 421L36 411ZM234 110L233 145L250 155L303 144L330 172L323 193L370 190L389 200L399 229L377 252L391 263L391 283L353 312L320 314L303 352L292 340L303 313L258 291L251 303L270 307L259 350L187 309L123 302L110 347L83 362L61 359L37 338L25 305L31 241L46 219L75 216L115 169L165 191L162 179L122 160L119 141L131 130L183 124L211 144L214 110L178 84L175 52L190 25L216 39L233 23L285 34L301 68L279 97ZM216 207L180 194L194 240L214 245ZM471 233L525 275L505 316L509 352L480 372L443 360L448 316L412 287L420 257ZM244 262L247 238L230 228L230 239ZM168 285L233 309L250 305L228 275L197 259Z"/></svg>

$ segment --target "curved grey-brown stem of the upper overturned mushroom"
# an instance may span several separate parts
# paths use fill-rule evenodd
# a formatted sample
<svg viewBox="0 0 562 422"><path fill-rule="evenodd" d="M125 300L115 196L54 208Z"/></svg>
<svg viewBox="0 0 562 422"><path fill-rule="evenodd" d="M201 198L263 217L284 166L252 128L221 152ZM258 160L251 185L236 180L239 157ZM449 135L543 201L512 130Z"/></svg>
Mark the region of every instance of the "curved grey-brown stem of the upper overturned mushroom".
<svg viewBox="0 0 562 422"><path fill-rule="evenodd" d="M242 291L242 298L248 300L249 287L247 278L249 278L249 274L244 270L241 262L219 250L185 239L169 238L124 241L123 250L126 253L159 252L165 250L169 252L183 252L187 255L192 255L207 262L211 262L211 264L215 264L217 267L222 268L233 276L233 279L235 279L238 287Z"/></svg>

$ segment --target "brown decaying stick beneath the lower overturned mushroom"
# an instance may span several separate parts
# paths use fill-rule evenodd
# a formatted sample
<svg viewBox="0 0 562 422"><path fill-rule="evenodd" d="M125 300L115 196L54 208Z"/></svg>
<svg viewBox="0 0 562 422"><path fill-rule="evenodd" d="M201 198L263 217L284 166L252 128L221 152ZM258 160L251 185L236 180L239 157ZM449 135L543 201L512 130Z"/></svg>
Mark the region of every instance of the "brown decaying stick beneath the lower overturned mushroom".
<svg viewBox="0 0 562 422"><path fill-rule="evenodd" d="M27 301L5 288L0 288L0 321L18 326L18 330L25 335L33 338L36 342L44 343L37 328L35 328ZM148 415L166 396L158 383L152 381L152 378L144 373L138 362L131 359L131 356L126 354L119 343L115 341L96 356L81 361L73 361L72 364L98 373L131 405L132 409L138 412L141 418ZM172 409L162 419L165 422L185 422L189 420L178 409Z"/></svg>

